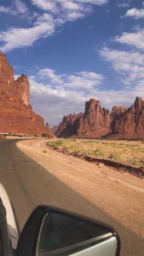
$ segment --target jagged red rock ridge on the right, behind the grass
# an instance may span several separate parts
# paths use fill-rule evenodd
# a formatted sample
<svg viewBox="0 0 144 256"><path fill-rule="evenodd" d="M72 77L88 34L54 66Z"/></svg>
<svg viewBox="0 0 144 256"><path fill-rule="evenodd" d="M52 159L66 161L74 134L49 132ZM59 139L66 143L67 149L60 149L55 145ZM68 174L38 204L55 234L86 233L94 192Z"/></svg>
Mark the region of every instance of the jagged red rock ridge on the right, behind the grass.
<svg viewBox="0 0 144 256"><path fill-rule="evenodd" d="M130 108L114 106L112 112L101 108L98 100L85 103L85 111L63 117L57 137L109 137L144 139L144 101L137 97Z"/></svg>

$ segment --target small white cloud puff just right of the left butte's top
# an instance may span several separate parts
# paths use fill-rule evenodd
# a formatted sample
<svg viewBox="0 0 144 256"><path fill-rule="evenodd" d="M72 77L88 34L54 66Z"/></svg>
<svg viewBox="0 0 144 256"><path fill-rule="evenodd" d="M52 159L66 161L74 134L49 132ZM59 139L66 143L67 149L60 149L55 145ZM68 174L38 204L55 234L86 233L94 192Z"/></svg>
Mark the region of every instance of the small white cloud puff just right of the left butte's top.
<svg viewBox="0 0 144 256"><path fill-rule="evenodd" d="M37 73L40 78L50 78L53 83L56 84L62 84L62 75L56 75L55 70L52 70L50 68L45 68L43 70L38 71Z"/></svg>

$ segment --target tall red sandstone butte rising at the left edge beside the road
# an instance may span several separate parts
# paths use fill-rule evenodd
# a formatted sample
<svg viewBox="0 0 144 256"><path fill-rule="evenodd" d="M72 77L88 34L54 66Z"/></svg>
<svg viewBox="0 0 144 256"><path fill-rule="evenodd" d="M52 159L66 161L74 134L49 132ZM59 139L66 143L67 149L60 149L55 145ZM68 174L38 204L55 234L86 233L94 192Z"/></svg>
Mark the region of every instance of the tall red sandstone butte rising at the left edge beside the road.
<svg viewBox="0 0 144 256"><path fill-rule="evenodd" d="M29 104L29 81L21 75L16 81L13 68L7 57L0 52L0 132L16 134L49 134L51 130L44 125L43 117L32 111Z"/></svg>

